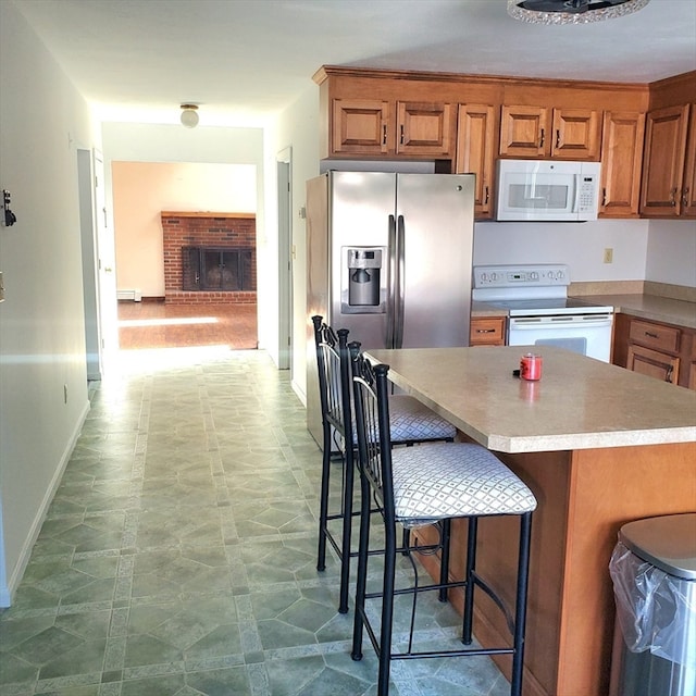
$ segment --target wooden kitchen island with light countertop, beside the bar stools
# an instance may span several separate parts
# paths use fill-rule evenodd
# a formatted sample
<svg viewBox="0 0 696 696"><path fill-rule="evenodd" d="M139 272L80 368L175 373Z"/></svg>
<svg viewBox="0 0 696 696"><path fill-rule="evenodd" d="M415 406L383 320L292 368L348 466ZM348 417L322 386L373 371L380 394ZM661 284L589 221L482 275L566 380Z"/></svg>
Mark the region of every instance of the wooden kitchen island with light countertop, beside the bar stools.
<svg viewBox="0 0 696 696"><path fill-rule="evenodd" d="M370 350L389 378L495 451L534 492L524 694L609 693L609 558L625 522L696 510L696 393L552 347L539 382L512 375L520 347ZM460 522L460 521L458 521ZM426 530L421 536L427 540ZM457 524L452 573L463 564ZM477 570L513 605L517 526L480 525ZM437 559L423 557L437 573ZM452 602L461 610L459 595ZM507 630L484 596L474 632ZM497 659L509 675L509 658Z"/></svg>

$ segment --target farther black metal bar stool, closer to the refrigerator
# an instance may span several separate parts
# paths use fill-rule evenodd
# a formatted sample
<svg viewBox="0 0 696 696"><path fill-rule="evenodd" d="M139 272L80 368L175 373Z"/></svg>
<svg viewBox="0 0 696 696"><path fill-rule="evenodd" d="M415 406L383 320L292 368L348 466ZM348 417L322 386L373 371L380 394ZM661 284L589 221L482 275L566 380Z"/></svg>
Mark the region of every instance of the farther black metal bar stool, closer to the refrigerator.
<svg viewBox="0 0 696 696"><path fill-rule="evenodd" d="M351 366L348 350L348 331L334 331L322 316L312 316L316 362L319 368L319 391L322 411L322 483L319 510L319 550L316 569L326 568L326 544L340 559L340 589L338 611L348 611L352 518L353 511L355 451L357 439L351 406ZM457 428L440 418L418 399L408 395L390 397L390 442L396 445L414 445L425 442L453 440ZM350 435L347 435L350 433ZM332 451L338 452L341 463L343 494L340 510L331 512L330 493L332 475ZM340 537L332 534L330 522L340 520Z"/></svg>

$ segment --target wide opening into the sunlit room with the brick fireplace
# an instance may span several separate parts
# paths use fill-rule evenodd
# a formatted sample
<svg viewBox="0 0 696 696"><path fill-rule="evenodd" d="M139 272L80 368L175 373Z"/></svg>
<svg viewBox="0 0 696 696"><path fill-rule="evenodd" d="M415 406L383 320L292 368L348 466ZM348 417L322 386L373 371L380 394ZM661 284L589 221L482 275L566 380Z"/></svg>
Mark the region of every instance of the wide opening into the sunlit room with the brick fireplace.
<svg viewBox="0 0 696 696"><path fill-rule="evenodd" d="M256 182L247 164L112 163L122 349L258 346Z"/></svg>

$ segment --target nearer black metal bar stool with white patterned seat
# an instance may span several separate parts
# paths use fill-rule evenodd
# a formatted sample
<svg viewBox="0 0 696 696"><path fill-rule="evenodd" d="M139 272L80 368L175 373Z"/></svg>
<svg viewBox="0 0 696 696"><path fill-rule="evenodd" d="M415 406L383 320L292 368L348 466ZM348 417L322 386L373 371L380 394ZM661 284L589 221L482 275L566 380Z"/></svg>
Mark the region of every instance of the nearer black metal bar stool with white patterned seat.
<svg viewBox="0 0 696 696"><path fill-rule="evenodd" d="M356 617L351 657L362 658L363 632L366 631L380 660L377 696L387 696L391 660L415 658L462 657L472 655L512 655L510 693L522 693L524 630L526 621L526 588L530 562L532 512L536 499L532 492L495 455L485 447L463 443L422 445L410 449L393 449L389 439L388 365L372 365L357 344L350 344L353 372L355 410L358 433L359 470L362 514L358 552ZM374 502L384 523L384 572L382 591L366 592L368 561L374 554L370 547L369 513ZM517 593L511 613L493 587L481 577L476 567L476 532L480 519L490 515L518 515L520 540L518 554ZM469 520L467 560L462 581L448 582L440 572L440 582L406 588L395 585L397 523L407 527L435 524L440 535L443 564L449 547L448 521ZM407 552L422 551L413 547ZM430 548L427 550L431 550ZM504 612L511 633L511 645L490 648L458 648L417 651L413 649L415 602L423 592L443 595L449 587L463 587L464 612L462 643L471 645L473 633L474 591L483 589ZM391 633L395 595L412 594L413 609L406 651L394 651ZM365 609L371 599L382 601L378 626Z"/></svg>

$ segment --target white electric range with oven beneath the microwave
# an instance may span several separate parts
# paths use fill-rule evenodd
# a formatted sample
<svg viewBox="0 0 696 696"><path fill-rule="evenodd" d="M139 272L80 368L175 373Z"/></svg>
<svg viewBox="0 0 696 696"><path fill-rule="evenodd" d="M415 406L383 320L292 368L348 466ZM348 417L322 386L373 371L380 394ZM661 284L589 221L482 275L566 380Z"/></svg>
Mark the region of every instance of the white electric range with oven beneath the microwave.
<svg viewBox="0 0 696 696"><path fill-rule="evenodd" d="M480 265L472 299L508 310L509 346L559 346L609 362L613 307L568 297L564 264Z"/></svg>

